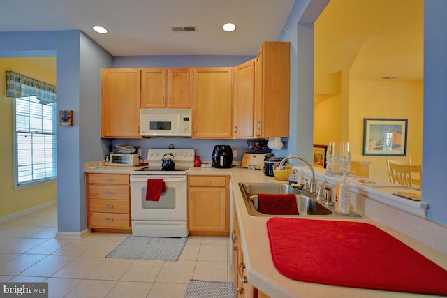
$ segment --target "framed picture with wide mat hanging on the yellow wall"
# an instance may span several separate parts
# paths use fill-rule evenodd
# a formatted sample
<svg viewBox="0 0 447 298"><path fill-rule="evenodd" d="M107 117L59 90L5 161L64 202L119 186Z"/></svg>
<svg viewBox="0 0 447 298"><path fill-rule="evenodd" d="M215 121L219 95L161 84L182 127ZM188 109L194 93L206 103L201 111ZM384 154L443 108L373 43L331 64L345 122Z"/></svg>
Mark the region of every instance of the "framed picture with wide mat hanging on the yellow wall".
<svg viewBox="0 0 447 298"><path fill-rule="evenodd" d="M406 156L408 119L365 118L363 155Z"/></svg>

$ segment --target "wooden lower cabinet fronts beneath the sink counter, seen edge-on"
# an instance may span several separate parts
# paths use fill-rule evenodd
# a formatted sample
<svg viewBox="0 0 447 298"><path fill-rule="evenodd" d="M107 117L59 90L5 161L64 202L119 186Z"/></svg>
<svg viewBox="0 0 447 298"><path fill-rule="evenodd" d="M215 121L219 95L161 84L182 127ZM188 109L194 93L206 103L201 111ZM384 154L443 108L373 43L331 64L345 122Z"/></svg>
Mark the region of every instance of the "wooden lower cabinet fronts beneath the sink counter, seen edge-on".
<svg viewBox="0 0 447 298"><path fill-rule="evenodd" d="M247 280L245 271L244 253L240 243L239 223L237 222L236 211L233 210L233 231L231 232L233 241L233 277L235 280L235 298L270 298L263 292L254 288Z"/></svg>

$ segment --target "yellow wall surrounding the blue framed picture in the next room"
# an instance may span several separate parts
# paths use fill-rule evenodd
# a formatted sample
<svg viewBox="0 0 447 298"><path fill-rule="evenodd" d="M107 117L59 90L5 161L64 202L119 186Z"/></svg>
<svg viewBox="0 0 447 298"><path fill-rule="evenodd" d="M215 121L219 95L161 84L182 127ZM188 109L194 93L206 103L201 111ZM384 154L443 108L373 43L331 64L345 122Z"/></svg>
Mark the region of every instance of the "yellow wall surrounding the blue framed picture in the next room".
<svg viewBox="0 0 447 298"><path fill-rule="evenodd" d="M363 119L408 119L406 156L363 156ZM423 82L351 81L349 84L349 142L351 158L372 161L369 177L388 181L386 158L422 164Z"/></svg>

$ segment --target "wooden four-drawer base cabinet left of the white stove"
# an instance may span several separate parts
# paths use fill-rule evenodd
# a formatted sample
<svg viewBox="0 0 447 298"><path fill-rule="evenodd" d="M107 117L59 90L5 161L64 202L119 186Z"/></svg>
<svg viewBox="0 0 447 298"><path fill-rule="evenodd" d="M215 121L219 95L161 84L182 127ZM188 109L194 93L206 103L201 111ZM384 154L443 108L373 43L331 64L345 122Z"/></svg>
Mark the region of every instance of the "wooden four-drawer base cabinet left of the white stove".
<svg viewBox="0 0 447 298"><path fill-rule="evenodd" d="M131 233L129 174L86 174L87 227Z"/></svg>

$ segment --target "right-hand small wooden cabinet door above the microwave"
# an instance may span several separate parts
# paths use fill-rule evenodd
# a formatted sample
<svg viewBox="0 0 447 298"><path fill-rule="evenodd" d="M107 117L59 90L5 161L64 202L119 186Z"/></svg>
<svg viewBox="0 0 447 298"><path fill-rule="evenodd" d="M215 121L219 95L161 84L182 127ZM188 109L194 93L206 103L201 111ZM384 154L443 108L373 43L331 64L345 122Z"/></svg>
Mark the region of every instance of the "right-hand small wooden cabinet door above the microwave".
<svg viewBox="0 0 447 298"><path fill-rule="evenodd" d="M168 107L191 107L191 69L168 68Z"/></svg>

